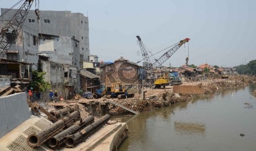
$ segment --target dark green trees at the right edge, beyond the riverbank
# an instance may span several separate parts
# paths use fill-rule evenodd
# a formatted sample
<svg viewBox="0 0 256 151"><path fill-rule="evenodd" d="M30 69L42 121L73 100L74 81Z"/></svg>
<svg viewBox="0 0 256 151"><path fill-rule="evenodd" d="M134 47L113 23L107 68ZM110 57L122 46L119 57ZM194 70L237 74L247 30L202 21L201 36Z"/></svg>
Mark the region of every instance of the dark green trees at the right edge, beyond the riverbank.
<svg viewBox="0 0 256 151"><path fill-rule="evenodd" d="M234 67L239 74L256 75L256 60L252 60L247 65L239 65Z"/></svg>

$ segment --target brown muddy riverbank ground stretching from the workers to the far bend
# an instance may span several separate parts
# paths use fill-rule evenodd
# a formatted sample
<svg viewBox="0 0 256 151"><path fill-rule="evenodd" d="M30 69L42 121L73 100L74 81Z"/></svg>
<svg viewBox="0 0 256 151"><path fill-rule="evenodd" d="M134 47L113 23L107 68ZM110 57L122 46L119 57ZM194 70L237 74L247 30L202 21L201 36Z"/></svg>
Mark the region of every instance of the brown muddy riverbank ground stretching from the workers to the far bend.
<svg viewBox="0 0 256 151"><path fill-rule="evenodd" d="M115 101L123 106L133 109L137 112L151 111L155 108L161 108L166 106L171 106L171 104L183 101L189 101L194 97L203 96L207 94L212 94L216 91L221 91L228 88L239 88L247 86L249 83L256 83L256 77L249 77L246 75L237 75L230 77L228 79L208 79L200 82L185 82L182 85L203 85L204 94L175 94L173 93L173 86L167 86L166 89L144 89L145 100L141 100L139 94L135 94L133 98L118 99L113 98L112 101ZM254 91L254 96L256 96L256 90ZM47 103L46 106L48 109L52 110L53 105L64 105L69 106L72 104L78 104L81 112L81 117L86 117L89 113L86 112L85 103L90 102L107 102L109 98L102 97L99 99L87 99L77 96L74 100L67 100L59 103ZM109 112L113 115L122 115L122 114L132 114L124 110L121 107L117 107L113 104L109 104ZM99 108L96 109L99 114Z"/></svg>

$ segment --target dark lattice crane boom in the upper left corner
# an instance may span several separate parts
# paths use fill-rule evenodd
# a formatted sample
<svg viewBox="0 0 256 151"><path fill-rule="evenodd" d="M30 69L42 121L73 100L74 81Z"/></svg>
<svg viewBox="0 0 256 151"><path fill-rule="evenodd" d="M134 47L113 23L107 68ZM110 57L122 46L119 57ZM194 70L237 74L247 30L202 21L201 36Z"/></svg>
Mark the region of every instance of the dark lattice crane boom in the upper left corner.
<svg viewBox="0 0 256 151"><path fill-rule="evenodd" d="M0 61L6 55L12 44L15 43L33 1L25 0L15 12L13 18L0 30Z"/></svg>

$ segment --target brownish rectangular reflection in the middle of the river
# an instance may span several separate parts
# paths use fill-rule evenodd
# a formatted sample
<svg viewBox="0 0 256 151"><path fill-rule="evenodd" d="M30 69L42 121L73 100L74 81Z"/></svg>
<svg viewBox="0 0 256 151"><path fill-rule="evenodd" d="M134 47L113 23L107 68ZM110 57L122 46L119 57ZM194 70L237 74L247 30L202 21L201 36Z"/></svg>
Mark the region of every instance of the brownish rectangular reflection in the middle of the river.
<svg viewBox="0 0 256 151"><path fill-rule="evenodd" d="M202 137L205 136L205 123L175 121L174 128L177 135Z"/></svg>

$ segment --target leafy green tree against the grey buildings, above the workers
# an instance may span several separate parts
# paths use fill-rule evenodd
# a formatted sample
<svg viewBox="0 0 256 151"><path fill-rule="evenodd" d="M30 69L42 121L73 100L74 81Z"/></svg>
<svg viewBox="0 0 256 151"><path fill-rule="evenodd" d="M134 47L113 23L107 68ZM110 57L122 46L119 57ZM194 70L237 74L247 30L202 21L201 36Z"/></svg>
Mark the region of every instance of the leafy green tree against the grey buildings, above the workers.
<svg viewBox="0 0 256 151"><path fill-rule="evenodd" d="M45 82L43 78L43 75L45 74L46 72L32 71L32 82L30 83L30 87L41 92L45 92L47 89L50 89L51 84Z"/></svg>

